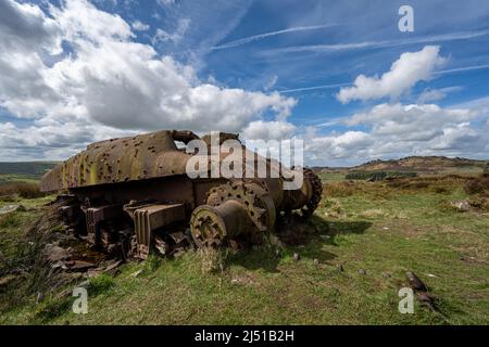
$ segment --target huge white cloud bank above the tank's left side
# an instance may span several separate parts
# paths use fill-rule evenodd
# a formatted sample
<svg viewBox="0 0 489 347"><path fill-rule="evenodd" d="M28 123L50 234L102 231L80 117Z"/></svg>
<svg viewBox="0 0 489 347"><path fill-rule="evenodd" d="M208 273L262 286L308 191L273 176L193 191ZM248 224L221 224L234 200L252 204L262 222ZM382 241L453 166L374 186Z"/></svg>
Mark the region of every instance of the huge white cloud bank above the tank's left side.
<svg viewBox="0 0 489 347"><path fill-rule="evenodd" d="M85 0L49 14L12 0L0 7L10 11L0 21L0 106L30 119L22 128L0 124L2 159L66 157L88 142L141 130L239 131L265 113L283 121L296 104L202 82L191 66L134 42L128 23ZM27 39L28 26L38 38ZM62 39L70 49L45 63L45 51Z"/></svg>

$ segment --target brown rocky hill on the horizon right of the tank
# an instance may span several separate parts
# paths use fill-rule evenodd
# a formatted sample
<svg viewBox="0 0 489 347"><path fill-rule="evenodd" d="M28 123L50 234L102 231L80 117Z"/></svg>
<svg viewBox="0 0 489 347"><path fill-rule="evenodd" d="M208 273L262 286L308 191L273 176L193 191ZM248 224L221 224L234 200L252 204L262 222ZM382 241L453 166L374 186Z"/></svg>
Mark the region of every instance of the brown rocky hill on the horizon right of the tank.
<svg viewBox="0 0 489 347"><path fill-rule="evenodd" d="M476 174L489 168L489 160L449 158L446 156L409 156L401 159L372 160L349 171L413 171L419 174Z"/></svg>

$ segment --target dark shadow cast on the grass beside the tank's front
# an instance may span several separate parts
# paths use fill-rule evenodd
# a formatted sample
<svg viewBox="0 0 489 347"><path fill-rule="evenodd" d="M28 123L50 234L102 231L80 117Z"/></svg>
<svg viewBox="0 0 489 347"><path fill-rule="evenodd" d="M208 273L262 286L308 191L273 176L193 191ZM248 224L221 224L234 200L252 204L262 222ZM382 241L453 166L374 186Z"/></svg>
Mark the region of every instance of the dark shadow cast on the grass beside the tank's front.
<svg viewBox="0 0 489 347"><path fill-rule="evenodd" d="M292 217L277 223L277 244L266 241L260 247L231 253L226 257L227 265L242 266L249 270L263 269L278 272L278 264L293 254L301 259L317 259L328 262L337 256L324 249L325 245L337 245L335 236L346 233L364 233L372 223L368 221L328 221L313 216L310 220ZM325 237L325 236L328 237Z"/></svg>

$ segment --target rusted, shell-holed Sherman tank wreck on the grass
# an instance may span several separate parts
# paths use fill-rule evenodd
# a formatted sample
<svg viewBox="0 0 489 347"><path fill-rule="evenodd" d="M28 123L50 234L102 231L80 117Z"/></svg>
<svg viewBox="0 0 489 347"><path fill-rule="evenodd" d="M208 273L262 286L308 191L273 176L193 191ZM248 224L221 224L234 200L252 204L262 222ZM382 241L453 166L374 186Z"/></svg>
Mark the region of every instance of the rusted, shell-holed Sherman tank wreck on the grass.
<svg viewBox="0 0 489 347"><path fill-rule="evenodd" d="M224 163L230 151L188 150L195 141L211 149L213 141L226 140L238 143L247 158L238 172L264 163L266 176L215 177L212 165ZM196 159L210 167L191 177L189 163ZM47 172L40 190L60 192L58 213L91 247L145 259L151 250L168 254L183 243L239 247L274 231L283 215L298 210L311 216L322 183L312 170L301 170L300 185L286 190L298 170L251 152L238 134L199 138L191 131L162 130L89 144Z"/></svg>

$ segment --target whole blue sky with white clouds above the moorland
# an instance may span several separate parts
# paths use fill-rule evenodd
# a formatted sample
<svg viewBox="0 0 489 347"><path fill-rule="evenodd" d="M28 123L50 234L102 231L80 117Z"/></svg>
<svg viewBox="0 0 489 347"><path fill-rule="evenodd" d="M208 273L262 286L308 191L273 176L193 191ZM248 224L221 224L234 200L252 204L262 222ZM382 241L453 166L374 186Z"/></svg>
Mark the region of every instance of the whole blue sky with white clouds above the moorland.
<svg viewBox="0 0 489 347"><path fill-rule="evenodd" d="M24 28L7 21L3 30L11 34L0 39L7 42L0 69L8 72L0 76L0 160L64 158L92 140L167 127L240 131L265 140L301 137L312 140L311 165L415 154L489 157L487 1L0 3L25 18ZM414 10L413 33L398 29L403 4ZM26 38L33 31L23 30L27 27L42 33L34 46ZM112 48L121 41L124 47ZM42 44L36 48L37 42ZM435 51L424 51L430 47ZM87 65L93 56L88 50L108 54L101 61L109 68ZM410 72L399 69L389 86L374 85L385 92L366 95L356 89L346 102L339 99L359 76L378 81L409 52L419 56L405 59L408 69L432 66L411 83L403 80ZM25 68L10 61L20 53L35 56ZM150 56L138 62L145 54ZM27 67L39 76L27 74ZM8 82L5 76L14 73L20 76L13 79L29 87ZM150 90L133 91L133 82ZM170 95L173 83L183 89ZM394 92L396 86L404 87ZM124 104L131 97L137 101ZM137 104L147 97L147 103ZM379 115L379 110L386 112ZM355 115L363 120L352 121ZM406 131L416 139L406 138Z"/></svg>

